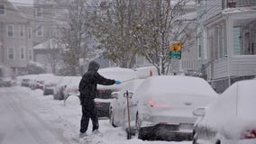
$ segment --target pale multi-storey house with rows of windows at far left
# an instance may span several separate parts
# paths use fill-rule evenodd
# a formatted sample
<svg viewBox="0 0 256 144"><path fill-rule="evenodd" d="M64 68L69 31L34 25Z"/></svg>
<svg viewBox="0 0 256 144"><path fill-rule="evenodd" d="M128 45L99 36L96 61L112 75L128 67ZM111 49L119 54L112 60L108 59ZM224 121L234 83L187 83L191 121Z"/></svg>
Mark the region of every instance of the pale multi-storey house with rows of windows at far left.
<svg viewBox="0 0 256 144"><path fill-rule="evenodd" d="M14 4L0 2L0 64L15 75L26 72L32 60L32 22Z"/></svg>

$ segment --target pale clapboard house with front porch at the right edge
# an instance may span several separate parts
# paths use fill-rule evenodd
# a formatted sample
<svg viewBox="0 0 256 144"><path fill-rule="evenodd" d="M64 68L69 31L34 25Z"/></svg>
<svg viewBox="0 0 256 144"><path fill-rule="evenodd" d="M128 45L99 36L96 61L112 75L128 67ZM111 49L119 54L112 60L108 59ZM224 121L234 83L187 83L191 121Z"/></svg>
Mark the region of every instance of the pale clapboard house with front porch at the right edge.
<svg viewBox="0 0 256 144"><path fill-rule="evenodd" d="M207 80L222 93L235 81L256 75L256 1L199 1L206 10Z"/></svg>

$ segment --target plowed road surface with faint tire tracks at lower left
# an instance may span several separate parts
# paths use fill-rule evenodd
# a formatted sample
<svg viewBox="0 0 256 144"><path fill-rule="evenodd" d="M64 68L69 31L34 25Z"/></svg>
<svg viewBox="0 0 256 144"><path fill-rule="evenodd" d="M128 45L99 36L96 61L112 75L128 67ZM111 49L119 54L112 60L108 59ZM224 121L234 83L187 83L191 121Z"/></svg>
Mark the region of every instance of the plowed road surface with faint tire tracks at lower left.
<svg viewBox="0 0 256 144"><path fill-rule="evenodd" d="M69 144L63 131L29 108L26 92L0 87L0 144Z"/></svg>

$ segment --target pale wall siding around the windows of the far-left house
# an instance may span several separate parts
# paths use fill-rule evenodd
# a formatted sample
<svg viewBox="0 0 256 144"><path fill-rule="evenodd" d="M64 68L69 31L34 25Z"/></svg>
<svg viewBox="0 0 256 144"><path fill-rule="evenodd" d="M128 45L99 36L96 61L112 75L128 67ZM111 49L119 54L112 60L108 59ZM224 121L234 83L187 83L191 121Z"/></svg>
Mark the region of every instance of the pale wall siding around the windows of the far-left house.
<svg viewBox="0 0 256 144"><path fill-rule="evenodd" d="M6 0L0 2L2 3L6 5L6 11L4 15L0 15L0 43L2 43L0 61L3 65L12 67L18 75L28 64L28 49L32 49L32 39L28 38L28 29L32 29L32 23L17 7ZM8 25L13 26L13 37L8 36ZM21 36L21 27L23 36ZM9 48L14 49L14 59L8 58ZM21 58L21 48L24 49L24 58Z"/></svg>

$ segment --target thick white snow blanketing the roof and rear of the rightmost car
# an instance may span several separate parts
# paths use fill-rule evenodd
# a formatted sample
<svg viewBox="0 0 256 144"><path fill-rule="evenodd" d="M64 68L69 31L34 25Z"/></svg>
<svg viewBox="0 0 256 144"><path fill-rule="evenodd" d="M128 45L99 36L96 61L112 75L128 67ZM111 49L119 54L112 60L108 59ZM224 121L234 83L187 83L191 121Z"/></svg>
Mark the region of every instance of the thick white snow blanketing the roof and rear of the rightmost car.
<svg viewBox="0 0 256 144"><path fill-rule="evenodd" d="M256 80L242 80L228 87L214 103L206 107L199 125L227 130L236 138L242 130L256 129Z"/></svg>

